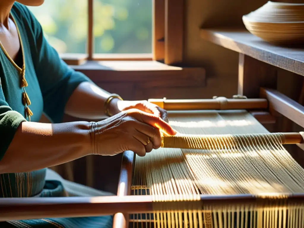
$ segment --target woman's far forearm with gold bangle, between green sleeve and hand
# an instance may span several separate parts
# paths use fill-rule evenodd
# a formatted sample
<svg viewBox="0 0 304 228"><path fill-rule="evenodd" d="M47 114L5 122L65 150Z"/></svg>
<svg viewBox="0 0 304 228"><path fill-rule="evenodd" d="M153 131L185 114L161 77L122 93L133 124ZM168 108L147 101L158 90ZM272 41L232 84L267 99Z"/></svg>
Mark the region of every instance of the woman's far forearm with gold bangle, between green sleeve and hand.
<svg viewBox="0 0 304 228"><path fill-rule="evenodd" d="M90 82L82 82L69 98L65 113L85 119L105 118L105 101L111 94ZM110 113L117 113L117 101L111 100Z"/></svg>

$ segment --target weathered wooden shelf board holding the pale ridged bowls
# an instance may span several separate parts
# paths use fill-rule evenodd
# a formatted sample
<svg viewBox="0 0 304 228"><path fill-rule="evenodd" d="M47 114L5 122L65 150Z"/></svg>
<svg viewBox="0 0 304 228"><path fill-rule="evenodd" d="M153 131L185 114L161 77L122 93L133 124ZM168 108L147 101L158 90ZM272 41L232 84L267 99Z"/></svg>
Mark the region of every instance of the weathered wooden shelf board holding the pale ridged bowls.
<svg viewBox="0 0 304 228"><path fill-rule="evenodd" d="M304 76L304 47L278 47L245 29L201 29L204 40Z"/></svg>

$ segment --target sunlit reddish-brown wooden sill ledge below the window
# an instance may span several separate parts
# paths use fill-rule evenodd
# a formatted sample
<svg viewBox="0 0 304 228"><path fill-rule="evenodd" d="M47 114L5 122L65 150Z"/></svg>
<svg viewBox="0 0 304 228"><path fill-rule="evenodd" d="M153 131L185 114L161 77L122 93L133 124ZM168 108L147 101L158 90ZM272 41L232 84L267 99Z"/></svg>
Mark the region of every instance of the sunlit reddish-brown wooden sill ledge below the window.
<svg viewBox="0 0 304 228"><path fill-rule="evenodd" d="M141 87L205 86L201 67L173 67L157 61L86 61L71 65L95 83L137 82Z"/></svg>

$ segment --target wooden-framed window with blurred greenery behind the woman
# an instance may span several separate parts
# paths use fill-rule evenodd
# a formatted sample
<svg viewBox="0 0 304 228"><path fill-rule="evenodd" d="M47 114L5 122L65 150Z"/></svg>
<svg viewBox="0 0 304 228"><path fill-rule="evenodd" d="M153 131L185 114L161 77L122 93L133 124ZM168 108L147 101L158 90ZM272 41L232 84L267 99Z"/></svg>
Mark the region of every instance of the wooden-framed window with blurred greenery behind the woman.
<svg viewBox="0 0 304 228"><path fill-rule="evenodd" d="M64 60L181 59L182 0L47 0L29 9Z"/></svg>

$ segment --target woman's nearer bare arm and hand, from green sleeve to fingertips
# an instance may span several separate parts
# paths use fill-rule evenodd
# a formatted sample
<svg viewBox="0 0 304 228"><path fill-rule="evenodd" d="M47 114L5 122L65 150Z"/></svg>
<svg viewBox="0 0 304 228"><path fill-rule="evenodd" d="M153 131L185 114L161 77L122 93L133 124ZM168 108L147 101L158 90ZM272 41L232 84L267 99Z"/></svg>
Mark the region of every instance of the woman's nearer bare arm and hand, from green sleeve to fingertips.
<svg viewBox="0 0 304 228"><path fill-rule="evenodd" d="M155 126L168 135L176 134L160 117L135 109L98 123L22 122L0 161L0 174L39 170L88 154L132 150L144 156L161 146L161 133Z"/></svg>

